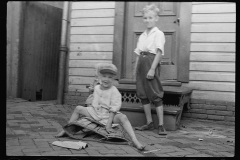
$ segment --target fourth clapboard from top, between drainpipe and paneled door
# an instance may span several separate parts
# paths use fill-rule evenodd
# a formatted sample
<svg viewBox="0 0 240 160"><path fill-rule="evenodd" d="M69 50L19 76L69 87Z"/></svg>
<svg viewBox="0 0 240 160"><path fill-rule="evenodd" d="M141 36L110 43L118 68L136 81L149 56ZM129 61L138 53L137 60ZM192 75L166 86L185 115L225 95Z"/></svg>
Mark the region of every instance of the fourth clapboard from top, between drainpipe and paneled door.
<svg viewBox="0 0 240 160"><path fill-rule="evenodd" d="M81 34L81 35L112 35L113 26L96 26L96 27L71 27L71 35Z"/></svg>

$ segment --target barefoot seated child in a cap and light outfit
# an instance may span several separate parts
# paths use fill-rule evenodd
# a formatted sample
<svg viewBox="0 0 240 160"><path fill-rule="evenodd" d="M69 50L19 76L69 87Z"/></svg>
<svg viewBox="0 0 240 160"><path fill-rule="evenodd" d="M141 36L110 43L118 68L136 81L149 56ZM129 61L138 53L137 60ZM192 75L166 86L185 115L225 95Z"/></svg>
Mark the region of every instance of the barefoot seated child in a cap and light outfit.
<svg viewBox="0 0 240 160"><path fill-rule="evenodd" d="M99 72L101 74L101 84L94 87L92 104L88 107L77 106L69 123L78 120L80 115L84 115L104 124L108 133L114 133L112 123L121 124L133 141L134 146L139 150L143 150L145 146L137 140L127 116L119 112L122 105L122 95L113 85L114 78L117 75L116 66L102 64L99 67ZM61 137L64 134L65 131L62 130L56 137Z"/></svg>

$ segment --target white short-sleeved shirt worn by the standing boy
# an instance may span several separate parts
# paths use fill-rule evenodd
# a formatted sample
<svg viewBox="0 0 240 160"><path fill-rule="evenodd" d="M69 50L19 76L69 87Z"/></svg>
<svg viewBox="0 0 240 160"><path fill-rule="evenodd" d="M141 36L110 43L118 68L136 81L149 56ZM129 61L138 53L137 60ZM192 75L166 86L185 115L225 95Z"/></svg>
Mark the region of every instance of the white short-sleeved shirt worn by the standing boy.
<svg viewBox="0 0 240 160"><path fill-rule="evenodd" d="M140 52L144 51L156 54L157 49L159 48L162 51L162 55L164 55L164 44L164 33L160 31L157 27L154 27L148 34L147 30L145 30L139 36L137 48L134 50L134 52L138 55L140 55Z"/></svg>

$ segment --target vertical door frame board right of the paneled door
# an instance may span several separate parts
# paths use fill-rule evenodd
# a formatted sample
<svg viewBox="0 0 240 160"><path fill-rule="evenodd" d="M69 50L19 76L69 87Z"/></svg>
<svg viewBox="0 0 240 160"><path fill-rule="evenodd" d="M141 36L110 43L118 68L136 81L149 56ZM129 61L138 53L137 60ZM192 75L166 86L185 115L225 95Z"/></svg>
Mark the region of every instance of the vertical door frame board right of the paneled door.
<svg viewBox="0 0 240 160"><path fill-rule="evenodd" d="M180 7L180 40L178 55L178 81L189 81L189 56L192 3L181 2Z"/></svg>

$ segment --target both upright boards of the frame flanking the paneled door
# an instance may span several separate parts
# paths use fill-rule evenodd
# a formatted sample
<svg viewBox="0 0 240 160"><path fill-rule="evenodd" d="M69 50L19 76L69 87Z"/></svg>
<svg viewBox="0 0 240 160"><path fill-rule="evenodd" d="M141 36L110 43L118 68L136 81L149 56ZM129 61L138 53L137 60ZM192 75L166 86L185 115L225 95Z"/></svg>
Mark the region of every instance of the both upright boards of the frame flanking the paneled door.
<svg viewBox="0 0 240 160"><path fill-rule="evenodd" d="M121 80L124 53L124 31L126 25L127 11L126 2L115 2L114 42L113 42L113 64L118 68L117 78ZM179 2L179 45L177 48L177 81L189 81L189 56L190 56L190 35L192 2ZM121 81L120 81L121 83ZM122 82L124 83L124 82ZM127 82L126 82L127 83Z"/></svg>

